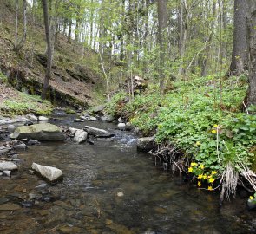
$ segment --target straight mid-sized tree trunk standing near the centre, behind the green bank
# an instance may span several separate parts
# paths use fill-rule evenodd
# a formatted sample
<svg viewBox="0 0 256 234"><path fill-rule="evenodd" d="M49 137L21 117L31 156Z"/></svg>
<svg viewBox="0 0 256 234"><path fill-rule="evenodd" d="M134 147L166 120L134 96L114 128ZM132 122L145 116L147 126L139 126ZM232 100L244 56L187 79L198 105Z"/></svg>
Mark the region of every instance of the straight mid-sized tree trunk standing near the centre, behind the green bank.
<svg viewBox="0 0 256 234"><path fill-rule="evenodd" d="M164 79L165 79L165 62L166 62L166 44L167 44L167 0L158 1L158 42L159 42L159 80L160 93L164 93Z"/></svg>

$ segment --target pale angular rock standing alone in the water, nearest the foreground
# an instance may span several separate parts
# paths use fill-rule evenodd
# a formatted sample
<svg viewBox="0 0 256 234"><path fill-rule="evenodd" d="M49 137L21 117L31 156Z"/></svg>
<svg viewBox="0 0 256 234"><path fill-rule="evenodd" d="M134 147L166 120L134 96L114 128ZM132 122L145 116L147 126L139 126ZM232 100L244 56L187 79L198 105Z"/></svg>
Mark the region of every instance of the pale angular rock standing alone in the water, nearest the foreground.
<svg viewBox="0 0 256 234"><path fill-rule="evenodd" d="M49 181L55 181L56 179L60 179L63 175L62 170L52 166L42 166L33 163L32 169L40 173L44 178L49 179Z"/></svg>

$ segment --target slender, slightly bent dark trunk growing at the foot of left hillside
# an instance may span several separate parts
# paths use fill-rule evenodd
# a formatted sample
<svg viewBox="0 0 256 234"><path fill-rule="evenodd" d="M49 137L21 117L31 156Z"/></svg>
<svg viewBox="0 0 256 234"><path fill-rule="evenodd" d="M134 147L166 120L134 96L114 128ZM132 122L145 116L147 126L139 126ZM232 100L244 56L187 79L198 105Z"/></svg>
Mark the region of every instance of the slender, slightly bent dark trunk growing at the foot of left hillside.
<svg viewBox="0 0 256 234"><path fill-rule="evenodd" d="M45 37L47 42L47 68L43 82L43 92L42 99L46 98L46 94L49 88L49 79L51 75L51 64L52 64L52 48L51 48L51 40L49 33L49 14L48 14L48 0L42 0L43 3L43 19L44 19L44 27L45 27Z"/></svg>

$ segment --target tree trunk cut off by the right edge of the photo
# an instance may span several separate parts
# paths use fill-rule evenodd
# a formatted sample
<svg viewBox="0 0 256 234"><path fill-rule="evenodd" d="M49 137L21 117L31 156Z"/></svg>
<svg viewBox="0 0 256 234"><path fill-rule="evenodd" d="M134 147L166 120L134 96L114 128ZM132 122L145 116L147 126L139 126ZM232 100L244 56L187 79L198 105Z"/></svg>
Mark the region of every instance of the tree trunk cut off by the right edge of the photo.
<svg viewBox="0 0 256 234"><path fill-rule="evenodd" d="M256 1L247 0L247 4L249 88L246 102L248 105L256 105Z"/></svg>

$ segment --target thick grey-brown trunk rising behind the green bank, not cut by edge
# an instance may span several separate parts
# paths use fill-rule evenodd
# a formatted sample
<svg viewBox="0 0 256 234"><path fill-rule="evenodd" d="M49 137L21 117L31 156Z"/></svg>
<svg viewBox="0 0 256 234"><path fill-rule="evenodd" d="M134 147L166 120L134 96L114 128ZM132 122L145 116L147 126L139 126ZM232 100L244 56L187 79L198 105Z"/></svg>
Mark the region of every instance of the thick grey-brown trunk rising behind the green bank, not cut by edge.
<svg viewBox="0 0 256 234"><path fill-rule="evenodd" d="M230 75L241 75L247 65L246 0L234 0L233 52Z"/></svg>

